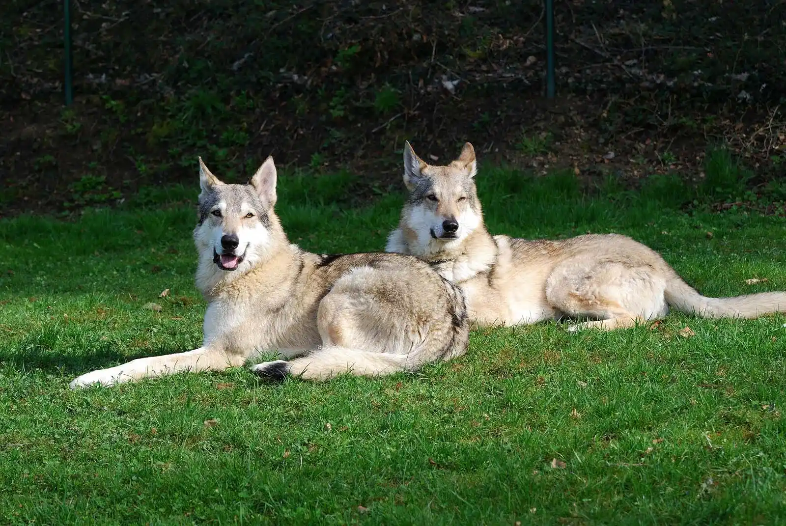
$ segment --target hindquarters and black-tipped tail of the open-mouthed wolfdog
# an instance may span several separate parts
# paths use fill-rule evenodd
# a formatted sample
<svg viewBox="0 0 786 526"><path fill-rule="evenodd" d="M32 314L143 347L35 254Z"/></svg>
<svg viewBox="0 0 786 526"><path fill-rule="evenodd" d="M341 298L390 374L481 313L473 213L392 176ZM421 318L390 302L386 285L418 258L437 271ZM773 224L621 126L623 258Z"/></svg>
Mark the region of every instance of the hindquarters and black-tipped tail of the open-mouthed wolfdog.
<svg viewBox="0 0 786 526"><path fill-rule="evenodd" d="M273 380L288 375L327 380L341 373L376 377L463 354L468 322L461 292L421 264L381 267L355 267L321 300L321 347L252 370Z"/></svg>

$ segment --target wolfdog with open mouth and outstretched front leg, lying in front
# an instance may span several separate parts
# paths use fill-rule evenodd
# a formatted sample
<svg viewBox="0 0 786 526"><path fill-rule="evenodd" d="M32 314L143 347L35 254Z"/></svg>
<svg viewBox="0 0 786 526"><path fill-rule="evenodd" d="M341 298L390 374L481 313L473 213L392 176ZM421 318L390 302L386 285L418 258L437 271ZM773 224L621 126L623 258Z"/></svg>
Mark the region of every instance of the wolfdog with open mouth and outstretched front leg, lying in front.
<svg viewBox="0 0 786 526"><path fill-rule="evenodd" d="M416 370L463 354L469 322L461 289L413 256L317 255L288 242L274 212L268 157L247 185L225 184L200 158L196 287L208 300L200 348L83 374L72 388L241 366L281 358L261 377L326 380Z"/></svg>

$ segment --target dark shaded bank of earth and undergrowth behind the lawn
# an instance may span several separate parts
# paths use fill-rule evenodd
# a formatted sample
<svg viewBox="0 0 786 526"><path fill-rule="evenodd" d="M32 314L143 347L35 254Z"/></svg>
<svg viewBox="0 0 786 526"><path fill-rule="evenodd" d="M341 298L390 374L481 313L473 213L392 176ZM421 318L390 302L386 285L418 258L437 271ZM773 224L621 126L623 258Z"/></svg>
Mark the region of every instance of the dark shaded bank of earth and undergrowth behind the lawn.
<svg viewBox="0 0 786 526"><path fill-rule="evenodd" d="M192 184L197 155L348 169L362 196L399 187L405 139L633 185L720 144L753 188L786 172L783 0L557 0L554 101L541 2L72 2L69 108L62 2L0 7L0 215Z"/></svg>

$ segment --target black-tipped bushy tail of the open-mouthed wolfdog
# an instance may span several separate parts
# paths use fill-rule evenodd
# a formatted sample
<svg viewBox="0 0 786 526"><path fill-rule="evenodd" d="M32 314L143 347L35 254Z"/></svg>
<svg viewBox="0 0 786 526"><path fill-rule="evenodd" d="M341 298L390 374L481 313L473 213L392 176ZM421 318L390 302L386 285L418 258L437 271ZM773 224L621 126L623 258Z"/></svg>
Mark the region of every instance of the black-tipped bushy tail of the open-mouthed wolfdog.
<svg viewBox="0 0 786 526"><path fill-rule="evenodd" d="M288 375L304 380L328 380L341 373L357 376L386 376L399 371L416 370L421 366L417 350L408 355L363 351L335 345L325 345L306 356L285 362L260 363L252 371L271 380L283 380Z"/></svg>

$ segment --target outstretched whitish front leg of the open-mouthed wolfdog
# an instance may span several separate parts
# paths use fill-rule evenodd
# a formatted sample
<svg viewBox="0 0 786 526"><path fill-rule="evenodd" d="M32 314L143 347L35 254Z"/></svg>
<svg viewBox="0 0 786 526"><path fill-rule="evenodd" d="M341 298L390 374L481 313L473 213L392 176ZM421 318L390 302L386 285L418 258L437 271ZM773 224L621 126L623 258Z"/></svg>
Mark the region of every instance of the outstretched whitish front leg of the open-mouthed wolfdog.
<svg viewBox="0 0 786 526"><path fill-rule="evenodd" d="M219 349L200 347L193 351L178 352L174 355L139 358L120 366L86 373L75 378L69 387L75 389L92 384L108 386L174 373L222 371L229 367L243 365L245 359L246 357L243 355L227 354Z"/></svg>

